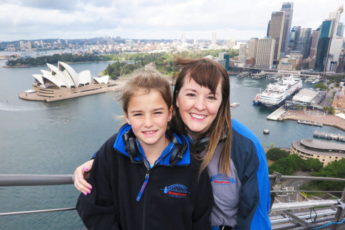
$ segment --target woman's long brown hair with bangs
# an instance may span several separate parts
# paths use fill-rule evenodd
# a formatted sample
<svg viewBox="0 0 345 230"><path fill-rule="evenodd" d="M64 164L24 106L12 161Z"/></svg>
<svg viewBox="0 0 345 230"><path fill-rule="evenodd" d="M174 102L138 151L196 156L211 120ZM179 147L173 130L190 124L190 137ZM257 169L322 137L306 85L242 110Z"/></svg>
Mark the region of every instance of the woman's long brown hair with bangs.
<svg viewBox="0 0 345 230"><path fill-rule="evenodd" d="M211 162L215 153L216 147L221 138L224 139L223 149L220 151L218 162L218 171L230 175L230 162L231 162L231 114L230 114L230 81L229 75L225 69L217 62L209 59L184 59L176 58L175 64L180 67L180 72L175 76L175 88L172 96L172 105L174 106L174 125L184 135L187 135L186 124L183 123L179 108L176 106L176 100L180 89L183 86L185 77L193 79L197 84L203 87L208 87L212 93L216 92L219 82L222 85L222 102L219 107L217 116L212 122L211 126L205 133L198 137L198 140L209 137L208 152L201 157L202 163L200 166L200 173ZM194 140L196 143L198 140Z"/></svg>

